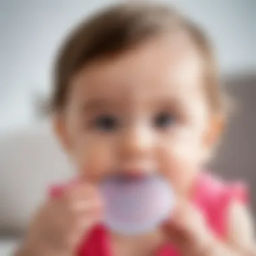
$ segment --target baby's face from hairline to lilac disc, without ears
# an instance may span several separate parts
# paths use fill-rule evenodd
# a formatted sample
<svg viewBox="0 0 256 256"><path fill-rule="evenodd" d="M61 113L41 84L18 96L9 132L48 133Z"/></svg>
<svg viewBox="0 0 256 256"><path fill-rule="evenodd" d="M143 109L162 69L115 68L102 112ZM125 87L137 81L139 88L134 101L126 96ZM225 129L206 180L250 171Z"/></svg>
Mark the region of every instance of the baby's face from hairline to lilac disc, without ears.
<svg viewBox="0 0 256 256"><path fill-rule="evenodd" d="M184 191L207 149L203 63L184 35L87 65L71 81L61 139L79 174L162 174Z"/></svg>

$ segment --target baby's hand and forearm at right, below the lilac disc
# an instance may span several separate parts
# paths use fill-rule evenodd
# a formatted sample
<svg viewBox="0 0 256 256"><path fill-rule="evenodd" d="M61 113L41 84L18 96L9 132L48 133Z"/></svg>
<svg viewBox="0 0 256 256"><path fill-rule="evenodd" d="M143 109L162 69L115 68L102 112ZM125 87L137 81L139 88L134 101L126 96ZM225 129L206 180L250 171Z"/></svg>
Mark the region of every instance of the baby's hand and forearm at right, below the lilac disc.
<svg viewBox="0 0 256 256"><path fill-rule="evenodd" d="M177 207L164 230L183 256L240 256L228 244L218 241L190 203L183 202Z"/></svg>

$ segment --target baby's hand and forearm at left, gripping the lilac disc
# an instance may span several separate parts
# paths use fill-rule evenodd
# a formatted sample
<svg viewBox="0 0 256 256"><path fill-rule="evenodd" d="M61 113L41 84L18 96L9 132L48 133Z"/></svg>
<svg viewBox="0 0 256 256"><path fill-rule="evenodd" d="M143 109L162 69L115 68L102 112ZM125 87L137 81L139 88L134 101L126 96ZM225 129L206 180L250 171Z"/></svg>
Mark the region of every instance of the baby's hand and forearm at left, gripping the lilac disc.
<svg viewBox="0 0 256 256"><path fill-rule="evenodd" d="M26 256L73 255L100 220L101 205L96 189L88 184L69 187L49 198L36 214L21 251Z"/></svg>

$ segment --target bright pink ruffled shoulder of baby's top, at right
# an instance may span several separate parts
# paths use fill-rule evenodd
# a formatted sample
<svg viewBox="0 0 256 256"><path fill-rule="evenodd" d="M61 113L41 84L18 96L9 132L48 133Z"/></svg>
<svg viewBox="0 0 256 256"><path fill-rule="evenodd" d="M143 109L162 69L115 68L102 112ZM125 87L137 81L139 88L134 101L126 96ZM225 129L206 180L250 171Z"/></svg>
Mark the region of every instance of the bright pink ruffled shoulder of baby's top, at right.
<svg viewBox="0 0 256 256"><path fill-rule="evenodd" d="M245 183L226 183L209 173L199 177L193 202L220 239L226 238L228 233L228 211L232 201L247 204L249 200Z"/></svg>

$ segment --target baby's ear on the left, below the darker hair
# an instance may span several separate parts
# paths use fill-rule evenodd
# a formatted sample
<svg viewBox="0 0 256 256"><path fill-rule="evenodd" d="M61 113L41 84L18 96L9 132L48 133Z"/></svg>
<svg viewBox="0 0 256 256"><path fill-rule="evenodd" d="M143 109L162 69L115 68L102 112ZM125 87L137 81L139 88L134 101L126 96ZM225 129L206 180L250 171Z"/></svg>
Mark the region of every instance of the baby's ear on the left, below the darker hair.
<svg viewBox="0 0 256 256"><path fill-rule="evenodd" d="M61 143L61 146L63 146L64 150L69 151L71 143L69 135L67 133L67 125L65 123L65 118L63 117L63 115L56 114L53 117L53 132Z"/></svg>

